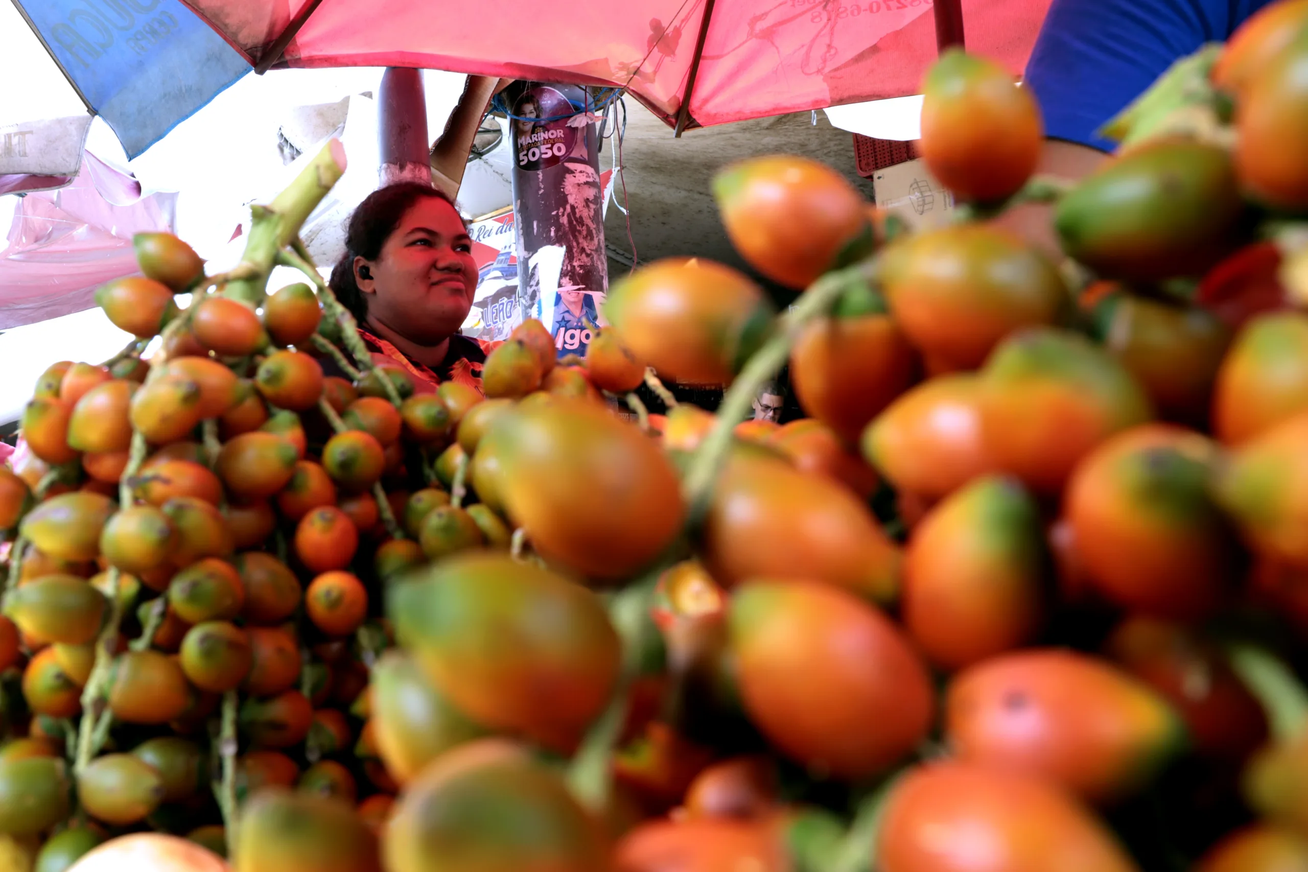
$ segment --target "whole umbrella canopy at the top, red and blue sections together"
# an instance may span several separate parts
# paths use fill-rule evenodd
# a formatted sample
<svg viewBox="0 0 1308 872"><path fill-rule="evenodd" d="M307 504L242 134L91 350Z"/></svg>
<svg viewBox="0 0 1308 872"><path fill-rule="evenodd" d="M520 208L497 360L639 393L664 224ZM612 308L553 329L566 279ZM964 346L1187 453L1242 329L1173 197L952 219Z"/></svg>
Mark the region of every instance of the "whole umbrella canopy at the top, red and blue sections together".
<svg viewBox="0 0 1308 872"><path fill-rule="evenodd" d="M937 55L937 18L964 21L971 50L1019 73L1049 0L939 3L934 14L930 0L13 0L129 158L251 68L617 85L678 131L901 97Z"/></svg>

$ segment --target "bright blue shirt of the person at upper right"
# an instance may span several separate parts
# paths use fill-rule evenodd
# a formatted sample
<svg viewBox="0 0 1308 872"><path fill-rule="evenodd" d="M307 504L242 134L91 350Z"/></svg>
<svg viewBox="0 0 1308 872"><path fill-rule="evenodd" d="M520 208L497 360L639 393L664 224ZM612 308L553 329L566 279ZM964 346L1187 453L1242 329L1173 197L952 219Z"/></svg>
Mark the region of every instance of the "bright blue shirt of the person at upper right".
<svg viewBox="0 0 1308 872"><path fill-rule="evenodd" d="M1027 61L1045 136L1116 146L1095 136L1172 63L1222 42L1269 0L1053 0Z"/></svg>

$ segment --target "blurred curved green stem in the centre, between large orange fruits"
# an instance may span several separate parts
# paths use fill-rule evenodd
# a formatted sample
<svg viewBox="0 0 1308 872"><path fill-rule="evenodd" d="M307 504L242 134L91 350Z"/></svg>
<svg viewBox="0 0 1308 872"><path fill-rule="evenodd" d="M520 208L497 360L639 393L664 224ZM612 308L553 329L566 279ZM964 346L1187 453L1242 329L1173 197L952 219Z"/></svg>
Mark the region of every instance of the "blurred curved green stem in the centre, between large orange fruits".
<svg viewBox="0 0 1308 872"><path fill-rule="evenodd" d="M704 442L691 458L681 492L691 507L691 520L697 522L708 509L709 493L718 476L718 469L731 447L735 426L744 420L753 404L753 397L763 384L774 378L790 357L790 348L799 337L804 324L832 310L840 295L854 284L867 282L875 271L876 260L865 260L853 267L829 272L804 290L799 301L778 319L778 328L763 346L753 353L740 374L731 382L718 407L717 421Z"/></svg>

